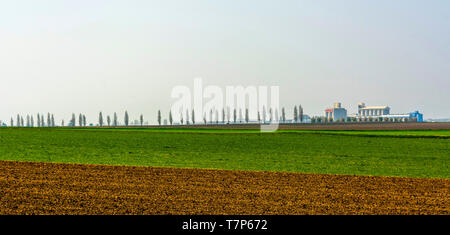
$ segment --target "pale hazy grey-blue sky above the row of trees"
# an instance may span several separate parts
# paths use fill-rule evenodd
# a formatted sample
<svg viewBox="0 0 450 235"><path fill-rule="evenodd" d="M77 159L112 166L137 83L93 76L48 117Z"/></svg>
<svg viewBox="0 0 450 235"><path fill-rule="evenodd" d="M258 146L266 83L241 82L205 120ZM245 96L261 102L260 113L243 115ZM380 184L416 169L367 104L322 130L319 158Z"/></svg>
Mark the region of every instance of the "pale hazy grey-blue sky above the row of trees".
<svg viewBox="0 0 450 235"><path fill-rule="evenodd" d="M14 0L0 3L0 120L128 110L156 121L177 85L279 85L333 102L450 117L448 0Z"/></svg>

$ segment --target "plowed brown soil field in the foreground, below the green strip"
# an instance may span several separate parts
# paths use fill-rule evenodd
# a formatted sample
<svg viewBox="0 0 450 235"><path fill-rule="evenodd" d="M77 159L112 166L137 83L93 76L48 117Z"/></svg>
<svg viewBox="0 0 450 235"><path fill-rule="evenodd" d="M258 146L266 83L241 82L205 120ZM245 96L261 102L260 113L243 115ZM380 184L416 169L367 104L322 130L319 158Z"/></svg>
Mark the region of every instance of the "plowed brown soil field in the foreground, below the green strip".
<svg viewBox="0 0 450 235"><path fill-rule="evenodd" d="M0 214L450 214L449 179L0 161Z"/></svg>

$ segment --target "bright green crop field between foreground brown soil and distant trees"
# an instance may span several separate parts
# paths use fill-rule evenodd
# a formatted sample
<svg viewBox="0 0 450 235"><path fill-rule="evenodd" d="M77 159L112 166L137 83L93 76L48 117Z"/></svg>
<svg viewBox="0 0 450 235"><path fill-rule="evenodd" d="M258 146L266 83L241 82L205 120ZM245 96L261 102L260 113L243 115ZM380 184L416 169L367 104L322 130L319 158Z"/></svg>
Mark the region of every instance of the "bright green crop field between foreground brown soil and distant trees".
<svg viewBox="0 0 450 235"><path fill-rule="evenodd" d="M0 160L450 178L450 132L0 128Z"/></svg>

